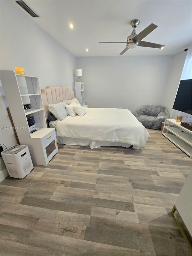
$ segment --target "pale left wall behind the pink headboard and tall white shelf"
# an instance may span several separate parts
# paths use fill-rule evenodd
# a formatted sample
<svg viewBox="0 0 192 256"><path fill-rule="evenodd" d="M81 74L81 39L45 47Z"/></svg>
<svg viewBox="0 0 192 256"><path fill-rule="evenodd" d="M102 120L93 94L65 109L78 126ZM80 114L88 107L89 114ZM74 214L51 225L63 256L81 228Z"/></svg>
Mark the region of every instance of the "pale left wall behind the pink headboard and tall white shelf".
<svg viewBox="0 0 192 256"><path fill-rule="evenodd" d="M46 86L74 87L75 56L38 27L11 1L0 1L0 26L1 70L23 67L26 74L38 74L41 89ZM0 107L0 126L11 126L2 86ZM0 143L7 147L16 144L13 130L0 129ZM2 158L0 179L3 176L1 170L5 169L1 160Z"/></svg>

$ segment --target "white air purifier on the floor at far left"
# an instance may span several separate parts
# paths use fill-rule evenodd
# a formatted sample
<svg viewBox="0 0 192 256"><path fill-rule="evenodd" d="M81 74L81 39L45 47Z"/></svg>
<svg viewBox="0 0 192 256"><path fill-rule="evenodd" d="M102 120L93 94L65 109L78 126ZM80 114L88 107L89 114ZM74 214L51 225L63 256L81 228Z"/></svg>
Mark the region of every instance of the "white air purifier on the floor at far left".
<svg viewBox="0 0 192 256"><path fill-rule="evenodd" d="M14 145L1 152L10 177L23 179L33 170L28 146Z"/></svg>

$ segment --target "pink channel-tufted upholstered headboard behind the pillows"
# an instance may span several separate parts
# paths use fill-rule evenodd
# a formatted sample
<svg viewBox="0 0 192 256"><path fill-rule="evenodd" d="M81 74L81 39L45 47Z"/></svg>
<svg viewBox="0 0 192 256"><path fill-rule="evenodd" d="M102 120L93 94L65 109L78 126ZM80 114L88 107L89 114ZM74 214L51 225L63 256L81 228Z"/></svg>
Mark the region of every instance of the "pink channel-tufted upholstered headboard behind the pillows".
<svg viewBox="0 0 192 256"><path fill-rule="evenodd" d="M46 89L41 90L41 97L43 100L45 117L47 119L47 116L49 115L48 104L56 104L63 100L74 99L74 92L69 87L47 86Z"/></svg>

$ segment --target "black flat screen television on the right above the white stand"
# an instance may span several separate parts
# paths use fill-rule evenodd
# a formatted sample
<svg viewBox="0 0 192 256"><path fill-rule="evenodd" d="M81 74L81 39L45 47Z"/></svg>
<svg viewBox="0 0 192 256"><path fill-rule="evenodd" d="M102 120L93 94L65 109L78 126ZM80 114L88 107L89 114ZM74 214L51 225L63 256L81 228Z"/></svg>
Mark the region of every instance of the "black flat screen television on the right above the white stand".
<svg viewBox="0 0 192 256"><path fill-rule="evenodd" d="M192 79L180 81L173 109L192 115Z"/></svg>

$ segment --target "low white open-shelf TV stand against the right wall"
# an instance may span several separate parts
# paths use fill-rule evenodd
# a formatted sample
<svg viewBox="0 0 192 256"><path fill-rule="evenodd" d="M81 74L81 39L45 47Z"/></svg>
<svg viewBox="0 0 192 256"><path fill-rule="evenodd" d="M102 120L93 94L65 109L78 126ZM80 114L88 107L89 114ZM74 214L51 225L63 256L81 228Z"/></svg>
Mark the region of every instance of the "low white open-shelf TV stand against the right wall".
<svg viewBox="0 0 192 256"><path fill-rule="evenodd" d="M192 131L182 127L181 122L165 119L162 134L192 158Z"/></svg>

